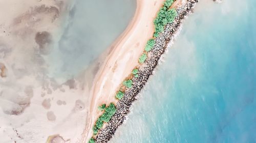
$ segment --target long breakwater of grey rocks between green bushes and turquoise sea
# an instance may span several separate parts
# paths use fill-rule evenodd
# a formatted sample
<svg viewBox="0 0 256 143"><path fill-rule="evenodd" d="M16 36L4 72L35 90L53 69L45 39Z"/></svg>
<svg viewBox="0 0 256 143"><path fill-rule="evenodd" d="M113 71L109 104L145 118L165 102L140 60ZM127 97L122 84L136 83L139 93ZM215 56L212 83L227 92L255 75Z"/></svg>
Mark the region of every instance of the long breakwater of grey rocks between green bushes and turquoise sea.
<svg viewBox="0 0 256 143"><path fill-rule="evenodd" d="M130 107L136 100L136 96L144 87L148 78L153 74L153 71L165 52L167 45L172 42L175 35L179 33L182 20L189 13L193 12L194 6L197 3L198 0L187 0L182 7L177 8L177 17L172 23L166 24L164 32L155 39L156 44L153 49L148 52L146 61L140 65L138 71L139 76L132 78L132 88L127 89L123 98L117 102L115 115L104 128L100 129L99 133L95 137L95 142L108 142L112 138L117 128L123 123L125 117L130 112Z"/></svg>

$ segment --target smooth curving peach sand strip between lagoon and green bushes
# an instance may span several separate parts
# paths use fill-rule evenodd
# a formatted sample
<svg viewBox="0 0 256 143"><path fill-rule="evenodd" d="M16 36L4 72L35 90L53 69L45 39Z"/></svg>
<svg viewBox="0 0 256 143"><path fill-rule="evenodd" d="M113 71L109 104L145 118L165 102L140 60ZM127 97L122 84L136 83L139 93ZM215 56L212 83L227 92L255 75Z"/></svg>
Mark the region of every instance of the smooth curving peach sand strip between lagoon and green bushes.
<svg viewBox="0 0 256 143"><path fill-rule="evenodd" d="M164 0L138 0L135 16L123 34L110 47L111 50L93 81L87 125L82 135L83 142L91 138L92 127L100 116L97 107L103 103L116 103L115 94L122 81L139 64L148 39L154 33L153 21Z"/></svg>

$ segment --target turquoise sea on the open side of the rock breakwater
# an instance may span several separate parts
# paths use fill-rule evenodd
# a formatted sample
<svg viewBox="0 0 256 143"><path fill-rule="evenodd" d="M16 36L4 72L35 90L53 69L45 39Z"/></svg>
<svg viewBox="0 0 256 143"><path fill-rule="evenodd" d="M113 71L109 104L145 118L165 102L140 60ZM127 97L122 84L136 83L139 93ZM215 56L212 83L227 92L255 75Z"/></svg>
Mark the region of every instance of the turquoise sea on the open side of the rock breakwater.
<svg viewBox="0 0 256 143"><path fill-rule="evenodd" d="M256 1L201 1L111 142L256 142Z"/></svg>

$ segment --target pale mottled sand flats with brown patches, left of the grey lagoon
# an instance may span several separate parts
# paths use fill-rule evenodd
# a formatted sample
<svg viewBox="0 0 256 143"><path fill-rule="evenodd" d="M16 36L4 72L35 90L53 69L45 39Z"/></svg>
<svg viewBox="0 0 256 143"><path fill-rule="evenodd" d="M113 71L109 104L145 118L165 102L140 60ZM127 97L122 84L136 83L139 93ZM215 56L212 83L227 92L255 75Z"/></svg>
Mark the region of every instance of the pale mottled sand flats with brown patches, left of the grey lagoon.
<svg viewBox="0 0 256 143"><path fill-rule="evenodd" d="M0 72L5 69L6 76L0 77L2 143L46 142L55 134L76 142L84 129L86 87L77 80L62 84L47 77L49 49L35 41L37 32L44 31L58 38L71 2L0 0Z"/></svg>

